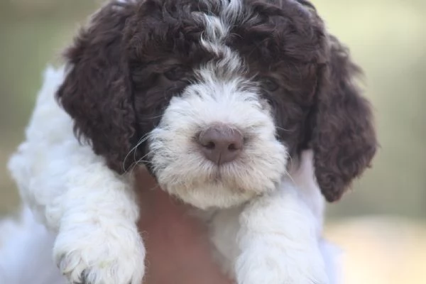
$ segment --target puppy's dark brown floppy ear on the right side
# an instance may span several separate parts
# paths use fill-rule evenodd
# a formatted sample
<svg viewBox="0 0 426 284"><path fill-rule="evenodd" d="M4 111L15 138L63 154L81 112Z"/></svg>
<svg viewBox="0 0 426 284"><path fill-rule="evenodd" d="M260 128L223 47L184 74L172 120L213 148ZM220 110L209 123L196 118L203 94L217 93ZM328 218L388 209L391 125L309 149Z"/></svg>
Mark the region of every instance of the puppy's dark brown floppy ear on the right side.
<svg viewBox="0 0 426 284"><path fill-rule="evenodd" d="M329 58L320 71L311 147L318 185L327 201L334 202L370 166L377 141L371 105L354 82L361 70L337 38L330 35L328 40Z"/></svg>

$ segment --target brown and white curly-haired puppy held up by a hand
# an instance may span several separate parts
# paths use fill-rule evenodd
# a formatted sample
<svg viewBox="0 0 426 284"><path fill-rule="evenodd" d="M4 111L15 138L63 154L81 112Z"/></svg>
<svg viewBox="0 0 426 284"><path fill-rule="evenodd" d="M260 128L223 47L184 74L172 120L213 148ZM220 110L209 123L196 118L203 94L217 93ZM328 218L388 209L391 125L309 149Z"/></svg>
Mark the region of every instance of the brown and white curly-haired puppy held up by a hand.
<svg viewBox="0 0 426 284"><path fill-rule="evenodd" d="M322 195L377 143L359 68L312 4L113 1L65 58L9 168L70 283L141 283L139 166L192 205L236 283L332 281Z"/></svg>

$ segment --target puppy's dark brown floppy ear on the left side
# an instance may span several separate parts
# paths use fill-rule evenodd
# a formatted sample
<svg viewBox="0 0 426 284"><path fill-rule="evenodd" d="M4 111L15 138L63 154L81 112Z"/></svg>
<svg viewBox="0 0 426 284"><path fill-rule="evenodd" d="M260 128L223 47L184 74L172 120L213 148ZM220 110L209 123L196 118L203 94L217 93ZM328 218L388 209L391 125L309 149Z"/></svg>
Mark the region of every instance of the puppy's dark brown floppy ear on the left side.
<svg viewBox="0 0 426 284"><path fill-rule="evenodd" d="M135 136L135 112L124 52L131 4L111 3L100 9L66 51L67 75L57 92L75 121L80 140L92 144L110 168L122 172Z"/></svg>

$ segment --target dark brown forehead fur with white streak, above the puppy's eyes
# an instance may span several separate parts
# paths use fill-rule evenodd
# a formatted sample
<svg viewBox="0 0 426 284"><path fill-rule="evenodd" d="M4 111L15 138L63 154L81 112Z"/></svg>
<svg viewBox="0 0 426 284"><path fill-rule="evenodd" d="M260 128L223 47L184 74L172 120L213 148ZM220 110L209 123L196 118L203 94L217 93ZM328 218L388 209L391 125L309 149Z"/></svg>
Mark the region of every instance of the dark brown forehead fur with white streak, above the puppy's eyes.
<svg viewBox="0 0 426 284"><path fill-rule="evenodd" d="M268 70L283 62L323 62L324 28L315 15L292 0L141 1L128 23L129 59L149 63L173 55L191 65L226 57L231 48Z"/></svg>

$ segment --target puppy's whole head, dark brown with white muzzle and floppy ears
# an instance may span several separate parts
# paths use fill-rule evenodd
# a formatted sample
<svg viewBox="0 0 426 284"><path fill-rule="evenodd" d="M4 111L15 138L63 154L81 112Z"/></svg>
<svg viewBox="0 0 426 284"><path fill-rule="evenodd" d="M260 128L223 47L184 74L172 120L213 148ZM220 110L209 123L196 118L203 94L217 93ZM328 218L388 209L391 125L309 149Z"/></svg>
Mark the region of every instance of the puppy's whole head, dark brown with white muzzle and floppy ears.
<svg viewBox="0 0 426 284"><path fill-rule="evenodd" d="M197 207L273 190L304 148L338 200L376 151L359 70L306 1L112 2L66 56L78 136Z"/></svg>

